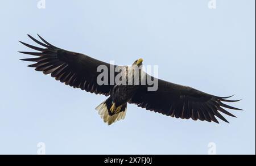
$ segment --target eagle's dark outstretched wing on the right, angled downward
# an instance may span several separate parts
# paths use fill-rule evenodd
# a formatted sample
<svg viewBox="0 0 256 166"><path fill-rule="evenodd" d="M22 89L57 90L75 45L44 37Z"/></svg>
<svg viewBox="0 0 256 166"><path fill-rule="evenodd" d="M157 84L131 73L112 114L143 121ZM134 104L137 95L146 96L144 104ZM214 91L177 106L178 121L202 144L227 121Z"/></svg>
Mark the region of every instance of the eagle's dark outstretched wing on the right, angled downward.
<svg viewBox="0 0 256 166"><path fill-rule="evenodd" d="M216 117L228 122L220 112L236 117L224 108L241 110L222 103L223 101L240 101L227 100L229 97L209 95L191 87L180 86L159 79L157 91L147 91L146 86L141 87L135 93L130 103L171 117L192 118L195 121L199 119L201 121L218 123Z"/></svg>

